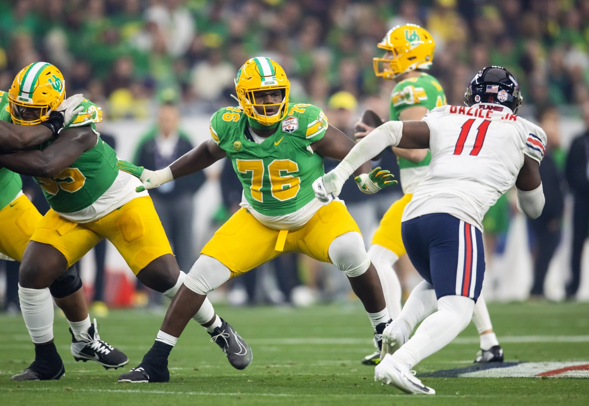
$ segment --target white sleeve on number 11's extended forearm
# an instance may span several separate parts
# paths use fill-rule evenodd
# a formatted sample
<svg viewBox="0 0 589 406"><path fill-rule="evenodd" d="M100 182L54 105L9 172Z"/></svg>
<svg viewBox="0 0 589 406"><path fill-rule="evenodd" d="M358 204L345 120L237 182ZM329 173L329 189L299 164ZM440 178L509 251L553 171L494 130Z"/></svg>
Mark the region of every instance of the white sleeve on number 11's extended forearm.
<svg viewBox="0 0 589 406"><path fill-rule="evenodd" d="M388 146L396 147L401 141L403 131L402 121L387 121L380 127L376 127L372 133L364 137L356 144L348 155L334 169L340 179L348 179L363 163Z"/></svg>

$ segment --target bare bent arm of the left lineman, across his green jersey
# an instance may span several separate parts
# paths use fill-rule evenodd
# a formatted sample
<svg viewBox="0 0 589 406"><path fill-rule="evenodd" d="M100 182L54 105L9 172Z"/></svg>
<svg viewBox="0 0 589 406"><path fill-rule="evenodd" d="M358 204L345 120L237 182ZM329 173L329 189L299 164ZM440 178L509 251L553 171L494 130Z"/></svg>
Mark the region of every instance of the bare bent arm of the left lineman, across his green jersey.
<svg viewBox="0 0 589 406"><path fill-rule="evenodd" d="M82 152L94 147L96 137L90 126L68 128L61 131L57 140L42 151L0 155L0 166L23 175L54 177L74 163Z"/></svg>

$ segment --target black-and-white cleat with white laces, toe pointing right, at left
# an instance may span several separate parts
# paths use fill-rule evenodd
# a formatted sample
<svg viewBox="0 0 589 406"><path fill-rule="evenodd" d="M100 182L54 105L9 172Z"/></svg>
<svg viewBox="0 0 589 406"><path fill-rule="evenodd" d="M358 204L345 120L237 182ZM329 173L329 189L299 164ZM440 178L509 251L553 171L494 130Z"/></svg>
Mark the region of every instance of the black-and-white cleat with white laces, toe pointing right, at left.
<svg viewBox="0 0 589 406"><path fill-rule="evenodd" d="M80 341L75 339L72 329L70 333L72 335L70 351L76 361L96 361L105 369L117 369L129 362L127 355L100 339L96 319L94 324L90 325L88 332L82 333L83 339Z"/></svg>

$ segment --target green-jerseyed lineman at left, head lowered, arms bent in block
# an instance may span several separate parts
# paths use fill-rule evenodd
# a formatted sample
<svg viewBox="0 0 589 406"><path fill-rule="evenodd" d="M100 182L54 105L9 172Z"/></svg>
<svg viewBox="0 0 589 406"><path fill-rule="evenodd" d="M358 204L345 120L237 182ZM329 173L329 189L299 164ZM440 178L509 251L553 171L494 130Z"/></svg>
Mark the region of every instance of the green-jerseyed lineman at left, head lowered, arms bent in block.
<svg viewBox="0 0 589 406"><path fill-rule="evenodd" d="M118 170L117 154L100 139L96 124L102 120L101 108L82 100L74 106L77 114L62 121L65 125L59 135L51 138L46 122L64 97L65 81L57 67L35 62L16 75L8 103L2 106L14 124L0 121L0 128L22 133L21 127L28 126L35 134L45 133L45 138L36 138L42 142L35 148L0 154L0 167L33 176L51 206L35 225L19 269L19 299L35 343L35 362L14 379L59 379L64 374L53 343L54 312L48 288L100 240L110 240L137 278L168 298L186 277L178 269L150 197L147 192L135 192L141 182ZM206 301L191 317L210 326L216 315ZM210 332L218 335L214 328ZM94 331L93 338L97 337ZM102 351L94 355L101 361L108 356L108 367L127 362L123 353L100 343ZM227 352L227 341L217 344ZM77 353L74 357L88 359Z"/></svg>

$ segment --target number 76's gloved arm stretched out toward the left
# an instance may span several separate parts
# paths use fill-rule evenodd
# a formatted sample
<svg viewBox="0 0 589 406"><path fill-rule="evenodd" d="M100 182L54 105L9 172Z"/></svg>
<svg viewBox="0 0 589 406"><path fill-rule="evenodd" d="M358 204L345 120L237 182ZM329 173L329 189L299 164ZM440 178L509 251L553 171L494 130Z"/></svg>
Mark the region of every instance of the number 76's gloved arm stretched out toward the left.
<svg viewBox="0 0 589 406"><path fill-rule="evenodd" d="M117 167L119 170L138 177L141 183L143 183L143 186L137 186L135 191L143 192L144 190L154 189L179 177L203 170L225 156L225 151L217 146L213 140L207 140L198 147L193 148L193 150L188 151L164 169L153 171L123 160L117 162Z"/></svg>

